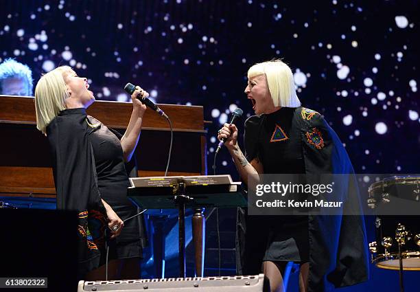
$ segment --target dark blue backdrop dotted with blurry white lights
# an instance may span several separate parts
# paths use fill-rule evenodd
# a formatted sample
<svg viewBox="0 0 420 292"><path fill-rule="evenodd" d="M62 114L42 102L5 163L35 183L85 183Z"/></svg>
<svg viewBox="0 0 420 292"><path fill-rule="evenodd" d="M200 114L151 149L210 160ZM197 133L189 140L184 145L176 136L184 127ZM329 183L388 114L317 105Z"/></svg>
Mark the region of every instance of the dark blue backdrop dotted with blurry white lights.
<svg viewBox="0 0 420 292"><path fill-rule="evenodd" d="M215 133L240 106L250 65L283 58L298 96L338 133L359 173L419 172L417 1L1 1L0 58L71 65L97 100L202 105ZM417 52L417 53L416 53ZM241 128L242 130L242 128ZM218 172L235 168L226 151Z"/></svg>

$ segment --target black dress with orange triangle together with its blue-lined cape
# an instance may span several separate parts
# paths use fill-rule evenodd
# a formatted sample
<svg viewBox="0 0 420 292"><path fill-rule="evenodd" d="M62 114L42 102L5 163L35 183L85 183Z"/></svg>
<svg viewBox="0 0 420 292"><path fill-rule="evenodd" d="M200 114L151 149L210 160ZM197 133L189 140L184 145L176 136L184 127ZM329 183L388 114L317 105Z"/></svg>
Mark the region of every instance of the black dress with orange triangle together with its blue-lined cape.
<svg viewBox="0 0 420 292"><path fill-rule="evenodd" d="M264 173L349 174L348 188L334 196L344 200L342 214L248 216L237 212L237 273L255 275L264 260L308 261L308 291L332 291L367 280L366 230L349 156L323 116L304 107L282 108L245 122L248 161L257 157ZM318 181L307 181L318 183ZM355 214L357 213L357 214Z"/></svg>

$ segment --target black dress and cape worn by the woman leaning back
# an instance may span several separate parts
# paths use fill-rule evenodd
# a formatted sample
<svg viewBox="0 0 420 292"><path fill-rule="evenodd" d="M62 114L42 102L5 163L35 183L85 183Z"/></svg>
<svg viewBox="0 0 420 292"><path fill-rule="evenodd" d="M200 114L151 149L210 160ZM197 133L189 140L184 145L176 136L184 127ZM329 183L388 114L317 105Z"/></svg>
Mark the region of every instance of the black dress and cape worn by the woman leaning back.
<svg viewBox="0 0 420 292"><path fill-rule="evenodd" d="M61 111L47 126L52 152L57 209L78 211L78 275L106 260L104 199L125 220L137 214L126 198L128 175L117 136L86 115L85 109ZM141 256L139 217L124 223L116 240L110 240L112 258Z"/></svg>

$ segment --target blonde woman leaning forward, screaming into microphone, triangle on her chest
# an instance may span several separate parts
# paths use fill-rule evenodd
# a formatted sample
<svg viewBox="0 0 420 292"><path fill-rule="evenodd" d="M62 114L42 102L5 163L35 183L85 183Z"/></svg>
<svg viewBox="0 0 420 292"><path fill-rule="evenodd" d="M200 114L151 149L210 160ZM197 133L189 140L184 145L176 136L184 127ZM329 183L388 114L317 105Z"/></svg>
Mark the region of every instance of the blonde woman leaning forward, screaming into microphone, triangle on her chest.
<svg viewBox="0 0 420 292"><path fill-rule="evenodd" d="M237 143L235 124L224 124L218 139L225 139L224 145L248 186L248 198L256 194L259 175L263 174L353 173L345 148L323 116L301 106L288 65L281 60L253 65L248 69L244 92L255 112L244 125L245 153ZM343 188L334 193L336 196L347 198L349 190ZM358 197L353 195L352 199L357 201ZM349 201L343 213L360 205ZM272 216L284 215L279 211L284 209L252 209L253 215L266 216L248 216L248 210L238 210L238 274L255 275L262 270L272 292L283 291L288 262L300 265L301 292L331 291L367 280L369 264L361 216L321 218L305 214L305 210L300 210L300 216Z"/></svg>

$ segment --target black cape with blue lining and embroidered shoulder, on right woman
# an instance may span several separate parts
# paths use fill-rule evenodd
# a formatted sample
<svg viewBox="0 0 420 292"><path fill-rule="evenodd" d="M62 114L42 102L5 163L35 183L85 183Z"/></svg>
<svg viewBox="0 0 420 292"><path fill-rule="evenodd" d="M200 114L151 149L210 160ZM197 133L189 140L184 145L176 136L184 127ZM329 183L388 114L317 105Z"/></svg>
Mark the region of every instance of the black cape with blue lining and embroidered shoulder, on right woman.
<svg viewBox="0 0 420 292"><path fill-rule="evenodd" d="M253 116L255 117L255 116ZM248 118L246 131L259 131L262 119ZM355 176L350 159L334 130L316 111L296 108L292 126L300 132L305 173L307 174L351 174L349 183L354 184ZM322 144L321 144L322 140ZM245 145L245 149L249 148ZM360 206L357 196L347 196L347 190L341 190L343 198L349 198L343 205L345 214L361 214L360 210L351 210ZM237 212L237 273L260 273L259 267L247 267L246 246L246 210ZM331 291L364 282L369 278L369 260L364 220L362 216L351 215L309 215L310 275L308 291ZM264 241L261 241L264 242Z"/></svg>

